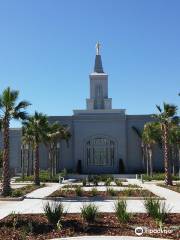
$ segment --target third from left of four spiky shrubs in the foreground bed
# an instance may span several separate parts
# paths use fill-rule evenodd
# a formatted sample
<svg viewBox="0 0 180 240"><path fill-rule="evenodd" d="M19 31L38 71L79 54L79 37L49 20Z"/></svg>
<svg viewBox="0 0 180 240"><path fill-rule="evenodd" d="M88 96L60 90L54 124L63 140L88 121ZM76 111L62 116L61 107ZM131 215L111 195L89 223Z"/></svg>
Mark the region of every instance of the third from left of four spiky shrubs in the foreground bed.
<svg viewBox="0 0 180 240"><path fill-rule="evenodd" d="M127 203L125 200L118 200L114 204L115 215L119 222L127 223L130 219L130 213L127 212Z"/></svg>

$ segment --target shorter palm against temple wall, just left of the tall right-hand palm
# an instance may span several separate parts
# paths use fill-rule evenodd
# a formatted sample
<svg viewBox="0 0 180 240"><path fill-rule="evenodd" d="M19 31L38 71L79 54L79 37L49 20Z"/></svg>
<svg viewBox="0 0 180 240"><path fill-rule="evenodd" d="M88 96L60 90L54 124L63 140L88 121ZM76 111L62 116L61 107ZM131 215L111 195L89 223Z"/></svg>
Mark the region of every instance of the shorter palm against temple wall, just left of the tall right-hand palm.
<svg viewBox="0 0 180 240"><path fill-rule="evenodd" d="M161 142L161 132L157 122L144 125L142 141L145 145L147 174L153 175L153 147Z"/></svg>

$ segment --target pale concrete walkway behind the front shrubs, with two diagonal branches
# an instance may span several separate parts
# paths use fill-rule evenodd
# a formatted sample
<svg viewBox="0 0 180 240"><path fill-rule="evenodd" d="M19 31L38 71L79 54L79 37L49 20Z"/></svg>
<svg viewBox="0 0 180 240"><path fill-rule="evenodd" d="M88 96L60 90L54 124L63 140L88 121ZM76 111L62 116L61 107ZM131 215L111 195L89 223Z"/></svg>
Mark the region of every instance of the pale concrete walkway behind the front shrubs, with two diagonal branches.
<svg viewBox="0 0 180 240"><path fill-rule="evenodd" d="M180 194L175 193L171 190L158 187L154 184L145 183L142 184L139 180L128 179L131 184L138 184L143 188L146 188L160 197L167 198L167 204L172 208L172 212L180 213ZM32 193L27 194L27 198L21 202L5 202L0 201L0 219L9 215L11 212L16 213L43 213L43 206L47 200L42 198L48 196L60 187L58 183L51 183L44 188L37 189ZM65 209L70 213L79 213L83 204L92 201L62 201ZM115 200L105 200L105 201L93 201L101 212L114 212L114 202ZM127 210L133 213L144 213L145 208L142 200L127 200Z"/></svg>

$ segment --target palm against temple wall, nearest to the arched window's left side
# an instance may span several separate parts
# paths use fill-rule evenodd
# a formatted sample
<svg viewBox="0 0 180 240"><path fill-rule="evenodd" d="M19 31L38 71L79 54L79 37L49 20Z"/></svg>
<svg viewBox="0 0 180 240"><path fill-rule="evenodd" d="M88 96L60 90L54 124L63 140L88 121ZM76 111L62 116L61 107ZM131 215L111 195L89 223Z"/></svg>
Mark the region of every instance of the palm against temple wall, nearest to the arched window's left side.
<svg viewBox="0 0 180 240"><path fill-rule="evenodd" d="M61 140L65 140L68 144L71 133L67 126L62 126L58 122L49 125L47 133L47 148L49 152L50 177L56 174L57 165L57 145Z"/></svg>

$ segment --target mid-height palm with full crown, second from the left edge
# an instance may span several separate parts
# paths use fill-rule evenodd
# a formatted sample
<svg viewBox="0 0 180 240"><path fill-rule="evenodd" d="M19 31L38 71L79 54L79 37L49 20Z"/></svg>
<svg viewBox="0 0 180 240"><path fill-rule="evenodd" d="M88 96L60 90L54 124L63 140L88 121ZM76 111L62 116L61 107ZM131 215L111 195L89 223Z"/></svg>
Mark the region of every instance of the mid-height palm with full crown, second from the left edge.
<svg viewBox="0 0 180 240"><path fill-rule="evenodd" d="M40 185L39 179L39 145L47 141L48 120L46 115L35 112L34 116L28 118L28 121L23 123L24 134L29 136L31 146L34 148L34 183Z"/></svg>

